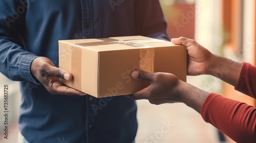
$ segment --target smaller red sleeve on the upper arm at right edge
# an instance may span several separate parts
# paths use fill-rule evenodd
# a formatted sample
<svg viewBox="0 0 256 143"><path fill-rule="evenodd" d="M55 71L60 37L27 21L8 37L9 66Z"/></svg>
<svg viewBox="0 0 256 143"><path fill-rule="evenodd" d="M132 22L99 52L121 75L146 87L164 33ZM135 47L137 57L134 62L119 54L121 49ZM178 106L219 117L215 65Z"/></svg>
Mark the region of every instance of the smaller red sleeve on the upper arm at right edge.
<svg viewBox="0 0 256 143"><path fill-rule="evenodd" d="M243 62L236 90L256 98L256 66Z"/></svg>

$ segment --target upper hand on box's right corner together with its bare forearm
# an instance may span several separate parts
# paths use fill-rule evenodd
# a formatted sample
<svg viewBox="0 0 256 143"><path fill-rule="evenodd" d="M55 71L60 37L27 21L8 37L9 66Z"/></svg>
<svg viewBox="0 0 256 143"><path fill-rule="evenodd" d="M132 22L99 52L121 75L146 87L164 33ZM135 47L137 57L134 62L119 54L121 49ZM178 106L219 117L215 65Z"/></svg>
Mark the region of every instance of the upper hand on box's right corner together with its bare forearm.
<svg viewBox="0 0 256 143"><path fill-rule="evenodd" d="M180 37L172 39L172 42L187 48L187 75L212 75L233 86L237 85L241 63L214 55L195 40Z"/></svg>

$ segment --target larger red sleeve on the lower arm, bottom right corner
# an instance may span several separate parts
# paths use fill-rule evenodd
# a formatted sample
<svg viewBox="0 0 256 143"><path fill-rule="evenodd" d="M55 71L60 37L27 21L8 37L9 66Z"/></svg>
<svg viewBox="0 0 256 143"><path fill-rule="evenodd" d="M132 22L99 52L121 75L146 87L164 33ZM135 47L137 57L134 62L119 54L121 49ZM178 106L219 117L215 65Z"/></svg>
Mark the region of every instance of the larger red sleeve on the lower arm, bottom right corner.
<svg viewBox="0 0 256 143"><path fill-rule="evenodd" d="M210 123L236 142L256 141L256 108L210 93L201 108Z"/></svg>

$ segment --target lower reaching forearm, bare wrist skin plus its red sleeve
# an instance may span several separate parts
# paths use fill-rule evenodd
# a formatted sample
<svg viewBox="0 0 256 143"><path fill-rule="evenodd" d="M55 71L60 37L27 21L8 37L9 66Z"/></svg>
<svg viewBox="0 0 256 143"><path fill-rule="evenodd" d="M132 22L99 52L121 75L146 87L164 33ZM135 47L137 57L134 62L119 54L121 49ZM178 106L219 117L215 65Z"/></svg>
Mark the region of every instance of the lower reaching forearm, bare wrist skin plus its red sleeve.
<svg viewBox="0 0 256 143"><path fill-rule="evenodd" d="M198 111L205 122L237 142L255 141L255 107L215 93L209 94L185 82L179 87L179 101Z"/></svg>

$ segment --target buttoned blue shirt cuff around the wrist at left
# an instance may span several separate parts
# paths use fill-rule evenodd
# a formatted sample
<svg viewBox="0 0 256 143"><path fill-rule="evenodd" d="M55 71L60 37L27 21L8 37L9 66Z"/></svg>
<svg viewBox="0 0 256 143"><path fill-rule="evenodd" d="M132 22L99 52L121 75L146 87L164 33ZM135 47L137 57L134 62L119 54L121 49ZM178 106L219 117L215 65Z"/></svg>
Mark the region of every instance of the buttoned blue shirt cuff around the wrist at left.
<svg viewBox="0 0 256 143"><path fill-rule="evenodd" d="M19 73L20 77L23 77L27 81L33 82L33 83L39 85L41 83L35 77L33 77L30 72L31 63L35 58L38 58L38 56L26 55L26 56L23 56L22 58L20 58L20 60L18 62L18 65L19 65L18 73Z"/></svg>

